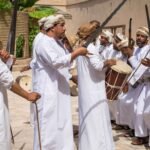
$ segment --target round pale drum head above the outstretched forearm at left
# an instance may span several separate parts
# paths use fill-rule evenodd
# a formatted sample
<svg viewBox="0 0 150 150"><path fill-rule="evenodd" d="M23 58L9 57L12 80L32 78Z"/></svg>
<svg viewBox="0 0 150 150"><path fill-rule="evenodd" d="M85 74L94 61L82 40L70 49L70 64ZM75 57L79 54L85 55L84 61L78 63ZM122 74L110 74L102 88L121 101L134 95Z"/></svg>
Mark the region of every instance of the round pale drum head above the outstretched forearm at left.
<svg viewBox="0 0 150 150"><path fill-rule="evenodd" d="M19 76L16 82L26 91L31 91L32 89L32 79L28 75Z"/></svg>

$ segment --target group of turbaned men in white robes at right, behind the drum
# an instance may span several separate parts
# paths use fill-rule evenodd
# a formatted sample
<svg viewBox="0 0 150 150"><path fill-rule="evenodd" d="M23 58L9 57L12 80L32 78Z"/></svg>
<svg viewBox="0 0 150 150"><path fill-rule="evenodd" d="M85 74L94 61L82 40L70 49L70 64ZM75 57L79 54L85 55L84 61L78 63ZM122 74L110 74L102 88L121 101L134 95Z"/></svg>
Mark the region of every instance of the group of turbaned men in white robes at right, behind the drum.
<svg viewBox="0 0 150 150"><path fill-rule="evenodd" d="M149 30L146 27L137 29L136 46L133 40L132 44L129 44L128 38L120 33L114 36L113 42L110 42L110 39L112 34L109 31L103 31L100 35L101 55L105 59L115 58L125 61L133 69L124 86L124 89L127 88L126 92L122 92L117 100L108 102L111 120L116 122L117 130L124 129L124 126L131 129L131 132L124 135L133 137L131 144L146 144L150 130Z"/></svg>

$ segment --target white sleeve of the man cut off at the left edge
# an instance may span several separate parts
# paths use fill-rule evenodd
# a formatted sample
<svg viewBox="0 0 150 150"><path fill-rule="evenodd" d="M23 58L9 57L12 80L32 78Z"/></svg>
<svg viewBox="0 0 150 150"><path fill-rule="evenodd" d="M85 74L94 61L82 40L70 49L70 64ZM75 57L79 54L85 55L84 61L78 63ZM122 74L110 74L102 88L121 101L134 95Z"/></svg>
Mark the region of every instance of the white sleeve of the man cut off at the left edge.
<svg viewBox="0 0 150 150"><path fill-rule="evenodd" d="M7 65L0 60L0 84L10 89L13 84L13 76Z"/></svg>

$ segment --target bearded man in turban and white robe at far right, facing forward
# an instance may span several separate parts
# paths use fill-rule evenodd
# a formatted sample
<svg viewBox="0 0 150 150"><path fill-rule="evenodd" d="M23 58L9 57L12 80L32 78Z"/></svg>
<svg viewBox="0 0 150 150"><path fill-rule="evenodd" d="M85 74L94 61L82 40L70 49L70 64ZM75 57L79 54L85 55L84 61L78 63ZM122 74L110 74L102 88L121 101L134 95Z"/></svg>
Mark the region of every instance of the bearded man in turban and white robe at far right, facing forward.
<svg viewBox="0 0 150 150"><path fill-rule="evenodd" d="M147 55L150 46L148 45L149 30L146 27L139 27L136 32L136 44L137 48L132 51L128 49L128 61L136 73L133 75L129 83L134 87L134 117L132 125L135 130L135 138L132 140L133 145L145 144L146 137L148 136L147 126L144 123L143 111L144 106L148 102L148 96L150 95L150 82L149 71L141 67L138 67L141 60ZM135 94L136 93L136 94ZM145 94L146 93L146 94ZM129 116L129 114L126 114Z"/></svg>

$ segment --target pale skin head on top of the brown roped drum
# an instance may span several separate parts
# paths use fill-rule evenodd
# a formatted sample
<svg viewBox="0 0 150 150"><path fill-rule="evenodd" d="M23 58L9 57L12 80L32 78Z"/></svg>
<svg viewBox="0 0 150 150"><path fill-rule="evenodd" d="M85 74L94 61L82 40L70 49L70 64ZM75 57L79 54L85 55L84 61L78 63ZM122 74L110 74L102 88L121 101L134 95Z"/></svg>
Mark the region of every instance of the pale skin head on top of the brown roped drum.
<svg viewBox="0 0 150 150"><path fill-rule="evenodd" d="M122 74L130 74L132 72L132 68L121 60L117 60L116 65L113 65L111 69Z"/></svg>

